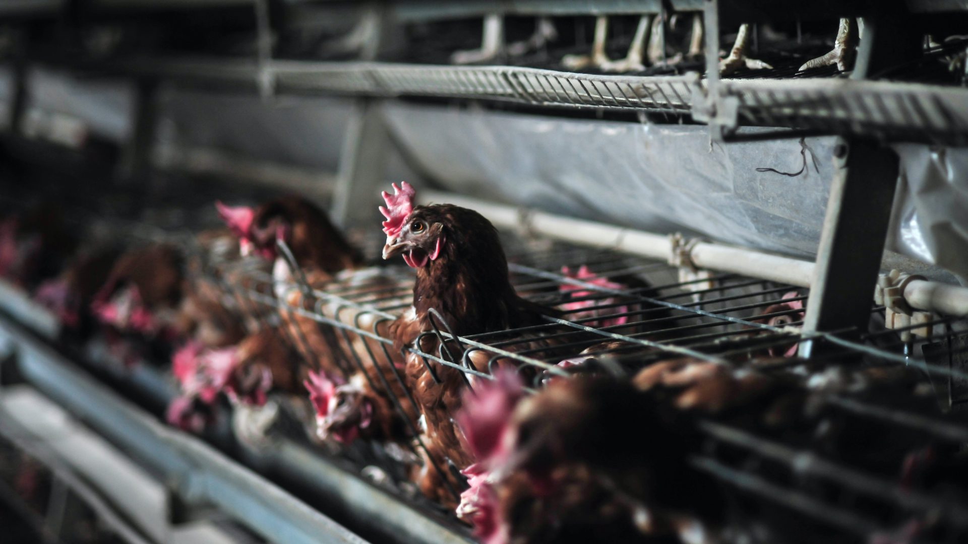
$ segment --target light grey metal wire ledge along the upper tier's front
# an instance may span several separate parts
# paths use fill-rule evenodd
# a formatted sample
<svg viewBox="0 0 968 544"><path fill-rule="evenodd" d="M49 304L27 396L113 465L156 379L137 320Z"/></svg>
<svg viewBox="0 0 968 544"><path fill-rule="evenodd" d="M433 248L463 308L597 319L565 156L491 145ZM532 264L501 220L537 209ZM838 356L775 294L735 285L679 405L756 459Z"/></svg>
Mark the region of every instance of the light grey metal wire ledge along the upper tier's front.
<svg viewBox="0 0 968 544"><path fill-rule="evenodd" d="M968 142L968 114L963 107L968 90L923 83L827 77L597 76L508 66L378 62L272 60L259 66L245 60L202 58L133 59L87 68L236 90L257 90L259 81L269 74L273 92L281 95L434 97L691 116L709 123L713 136L727 140L748 138L737 132L741 126L765 126L800 131L767 136L772 138L808 133L952 145Z"/></svg>

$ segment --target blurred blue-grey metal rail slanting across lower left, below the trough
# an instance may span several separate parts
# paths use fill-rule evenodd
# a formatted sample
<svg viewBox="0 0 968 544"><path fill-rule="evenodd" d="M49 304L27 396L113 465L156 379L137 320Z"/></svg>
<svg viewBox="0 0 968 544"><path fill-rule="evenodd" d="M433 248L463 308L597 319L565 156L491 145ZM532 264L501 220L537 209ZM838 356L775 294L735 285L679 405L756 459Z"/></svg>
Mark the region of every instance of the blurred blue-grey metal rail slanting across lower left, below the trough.
<svg viewBox="0 0 968 544"><path fill-rule="evenodd" d="M225 456L120 399L80 372L6 313L0 332L16 346L21 374L139 462L162 474L189 502L217 505L239 523L275 542L364 541L331 519Z"/></svg>

